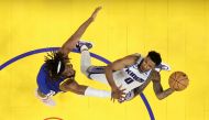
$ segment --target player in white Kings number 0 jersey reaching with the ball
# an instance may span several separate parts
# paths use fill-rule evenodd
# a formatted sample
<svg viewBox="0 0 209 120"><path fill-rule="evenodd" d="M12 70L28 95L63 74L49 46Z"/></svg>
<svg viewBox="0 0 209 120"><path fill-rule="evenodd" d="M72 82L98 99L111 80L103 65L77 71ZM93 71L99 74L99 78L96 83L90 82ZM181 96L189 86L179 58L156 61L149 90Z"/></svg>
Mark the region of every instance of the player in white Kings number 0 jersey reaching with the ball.
<svg viewBox="0 0 209 120"><path fill-rule="evenodd" d="M128 55L107 66L91 65L90 54L86 45L80 47L80 52L82 74L90 79L109 84L113 101L114 99L118 99L119 102L131 100L141 94L150 81L153 83L153 89L158 99L163 99L175 91L172 88L163 89L161 75L156 69L165 69L166 66L162 65L161 55L154 51L148 52L145 57L140 54Z"/></svg>

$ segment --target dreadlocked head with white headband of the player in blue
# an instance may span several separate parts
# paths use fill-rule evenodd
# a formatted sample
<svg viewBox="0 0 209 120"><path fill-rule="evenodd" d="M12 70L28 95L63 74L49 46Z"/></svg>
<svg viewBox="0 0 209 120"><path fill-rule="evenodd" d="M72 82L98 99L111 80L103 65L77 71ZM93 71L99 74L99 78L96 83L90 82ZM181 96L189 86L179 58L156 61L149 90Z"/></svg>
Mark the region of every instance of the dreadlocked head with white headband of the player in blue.
<svg viewBox="0 0 209 120"><path fill-rule="evenodd" d="M50 77L54 80L61 77L74 77L75 70L69 62L69 58L61 52L47 53L45 56L46 70Z"/></svg>

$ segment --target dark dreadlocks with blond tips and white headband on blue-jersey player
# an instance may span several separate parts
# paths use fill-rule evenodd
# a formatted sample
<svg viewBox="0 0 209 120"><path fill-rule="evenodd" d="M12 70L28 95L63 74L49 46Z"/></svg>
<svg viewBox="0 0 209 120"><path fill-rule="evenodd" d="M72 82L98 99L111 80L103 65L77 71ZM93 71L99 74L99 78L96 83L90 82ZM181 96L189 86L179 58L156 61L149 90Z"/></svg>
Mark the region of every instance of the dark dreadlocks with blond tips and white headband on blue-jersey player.
<svg viewBox="0 0 209 120"><path fill-rule="evenodd" d="M45 70L53 80L58 80L62 77L62 73L65 70L65 64L69 58L61 52L51 52L45 56ZM59 68L58 68L59 66Z"/></svg>

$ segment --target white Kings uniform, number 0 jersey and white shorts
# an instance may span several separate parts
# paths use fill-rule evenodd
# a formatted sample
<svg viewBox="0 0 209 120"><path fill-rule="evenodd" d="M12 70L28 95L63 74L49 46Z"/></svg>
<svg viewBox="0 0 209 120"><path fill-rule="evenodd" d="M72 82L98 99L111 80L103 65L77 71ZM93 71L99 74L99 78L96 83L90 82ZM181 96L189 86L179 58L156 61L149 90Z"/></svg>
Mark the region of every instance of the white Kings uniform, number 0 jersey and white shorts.
<svg viewBox="0 0 209 120"><path fill-rule="evenodd" d="M148 70L145 73L141 73L138 69L138 66L142 62L142 59L143 59L143 57L140 57L139 61L134 65L123 68L121 70L113 72L114 83L117 84L118 87L122 86L122 88L125 89L125 91L124 91L125 94L128 94L132 89L144 84L147 80L147 78L152 72L152 70ZM90 74L89 77L91 79L108 84L105 73L103 74Z"/></svg>

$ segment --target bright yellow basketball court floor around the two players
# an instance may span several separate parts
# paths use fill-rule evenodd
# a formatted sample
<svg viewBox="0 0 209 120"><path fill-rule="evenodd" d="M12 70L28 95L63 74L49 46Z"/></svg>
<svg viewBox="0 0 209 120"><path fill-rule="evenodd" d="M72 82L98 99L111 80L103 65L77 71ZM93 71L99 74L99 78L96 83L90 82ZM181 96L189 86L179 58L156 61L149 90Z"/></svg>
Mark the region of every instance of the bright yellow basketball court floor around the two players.
<svg viewBox="0 0 209 120"><path fill-rule="evenodd" d="M82 40L90 52L111 62L125 55L155 50L172 72L162 72L162 84L175 70L187 73L189 87L158 100L152 84L144 90L155 120L209 120L209 0L0 0L0 65L25 52L59 47L91 14L103 9ZM0 119L44 120L151 120L139 96L122 105L109 98L72 92L54 97L46 107L34 96L36 75L46 53L20 58L0 70ZM70 53L80 84L110 88L86 78L80 55ZM92 58L96 65L105 63ZM51 119L55 120L55 119Z"/></svg>

